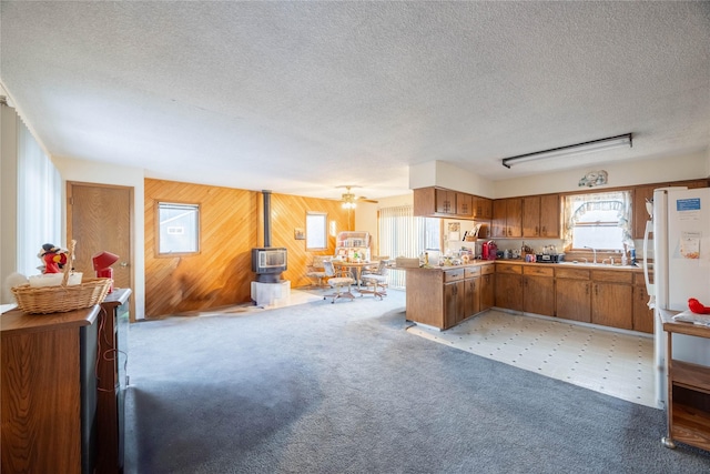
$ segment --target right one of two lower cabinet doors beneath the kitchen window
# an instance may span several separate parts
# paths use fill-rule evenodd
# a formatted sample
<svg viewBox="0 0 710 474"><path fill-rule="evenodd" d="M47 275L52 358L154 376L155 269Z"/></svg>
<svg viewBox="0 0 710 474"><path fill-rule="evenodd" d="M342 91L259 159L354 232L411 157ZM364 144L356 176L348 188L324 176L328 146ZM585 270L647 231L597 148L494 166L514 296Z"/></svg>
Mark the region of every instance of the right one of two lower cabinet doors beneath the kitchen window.
<svg viewBox="0 0 710 474"><path fill-rule="evenodd" d="M591 293L591 322L623 330L633 329L631 285L595 282Z"/></svg>

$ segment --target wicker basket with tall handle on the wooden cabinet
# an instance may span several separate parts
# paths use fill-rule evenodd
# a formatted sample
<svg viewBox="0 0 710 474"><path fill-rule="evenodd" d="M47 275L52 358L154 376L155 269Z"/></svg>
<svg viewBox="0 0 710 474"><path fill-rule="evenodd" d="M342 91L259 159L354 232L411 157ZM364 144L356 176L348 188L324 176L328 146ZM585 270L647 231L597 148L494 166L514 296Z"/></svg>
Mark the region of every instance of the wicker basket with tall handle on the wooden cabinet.
<svg viewBox="0 0 710 474"><path fill-rule="evenodd" d="M71 262L75 242L69 249ZM29 314L64 313L81 310L103 302L111 288L111 279L85 279L81 284L68 286L69 268L64 265L64 276L59 286L30 286L23 284L12 290L18 307Z"/></svg>

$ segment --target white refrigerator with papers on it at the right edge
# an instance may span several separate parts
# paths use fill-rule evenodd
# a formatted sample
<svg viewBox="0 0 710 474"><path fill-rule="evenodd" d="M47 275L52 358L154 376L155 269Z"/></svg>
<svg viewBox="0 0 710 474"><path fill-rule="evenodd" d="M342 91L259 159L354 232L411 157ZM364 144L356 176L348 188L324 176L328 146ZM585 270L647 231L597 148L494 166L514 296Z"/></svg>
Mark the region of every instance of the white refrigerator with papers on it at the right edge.
<svg viewBox="0 0 710 474"><path fill-rule="evenodd" d="M653 283L648 293L655 306L656 400L663 407L667 335L659 312L686 311L690 297L710 305L710 188L657 189L652 205ZM710 341L673 334L673 359L708 365Z"/></svg>

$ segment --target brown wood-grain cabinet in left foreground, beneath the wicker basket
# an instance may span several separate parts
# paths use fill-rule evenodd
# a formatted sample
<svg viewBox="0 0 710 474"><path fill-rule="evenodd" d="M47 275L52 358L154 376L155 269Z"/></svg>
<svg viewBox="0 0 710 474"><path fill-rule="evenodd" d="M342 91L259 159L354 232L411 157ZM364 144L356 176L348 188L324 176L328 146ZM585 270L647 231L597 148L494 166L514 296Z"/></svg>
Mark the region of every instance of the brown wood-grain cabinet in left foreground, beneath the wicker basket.
<svg viewBox="0 0 710 474"><path fill-rule="evenodd" d="M3 473L92 473L99 306L0 315Z"/></svg>

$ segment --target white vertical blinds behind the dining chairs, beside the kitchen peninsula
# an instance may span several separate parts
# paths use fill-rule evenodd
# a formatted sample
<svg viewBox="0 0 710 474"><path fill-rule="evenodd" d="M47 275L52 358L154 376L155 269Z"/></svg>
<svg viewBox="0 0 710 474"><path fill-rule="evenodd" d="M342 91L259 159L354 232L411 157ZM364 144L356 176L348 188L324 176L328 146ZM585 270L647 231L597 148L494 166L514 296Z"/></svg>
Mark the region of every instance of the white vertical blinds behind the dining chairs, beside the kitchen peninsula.
<svg viewBox="0 0 710 474"><path fill-rule="evenodd" d="M432 246L427 245L427 219L415 218L412 205L381 209L378 229L379 253L389 255L393 260L397 256L418 256ZM438 230L435 236L438 248ZM389 286L405 288L406 278L403 270L389 271L387 278Z"/></svg>

